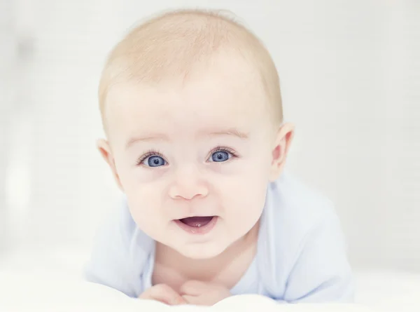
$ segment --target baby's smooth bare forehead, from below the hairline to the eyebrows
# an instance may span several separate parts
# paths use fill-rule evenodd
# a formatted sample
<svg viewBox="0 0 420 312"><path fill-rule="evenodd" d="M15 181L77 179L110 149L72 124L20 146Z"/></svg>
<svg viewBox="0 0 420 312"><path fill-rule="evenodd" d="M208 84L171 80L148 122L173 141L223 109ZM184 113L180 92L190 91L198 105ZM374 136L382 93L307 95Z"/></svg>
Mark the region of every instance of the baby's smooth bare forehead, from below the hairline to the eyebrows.
<svg viewBox="0 0 420 312"><path fill-rule="evenodd" d="M269 123L267 105L252 91L253 86L239 90L238 81L204 76L184 85L122 84L109 97L109 131L123 137L253 133Z"/></svg>

